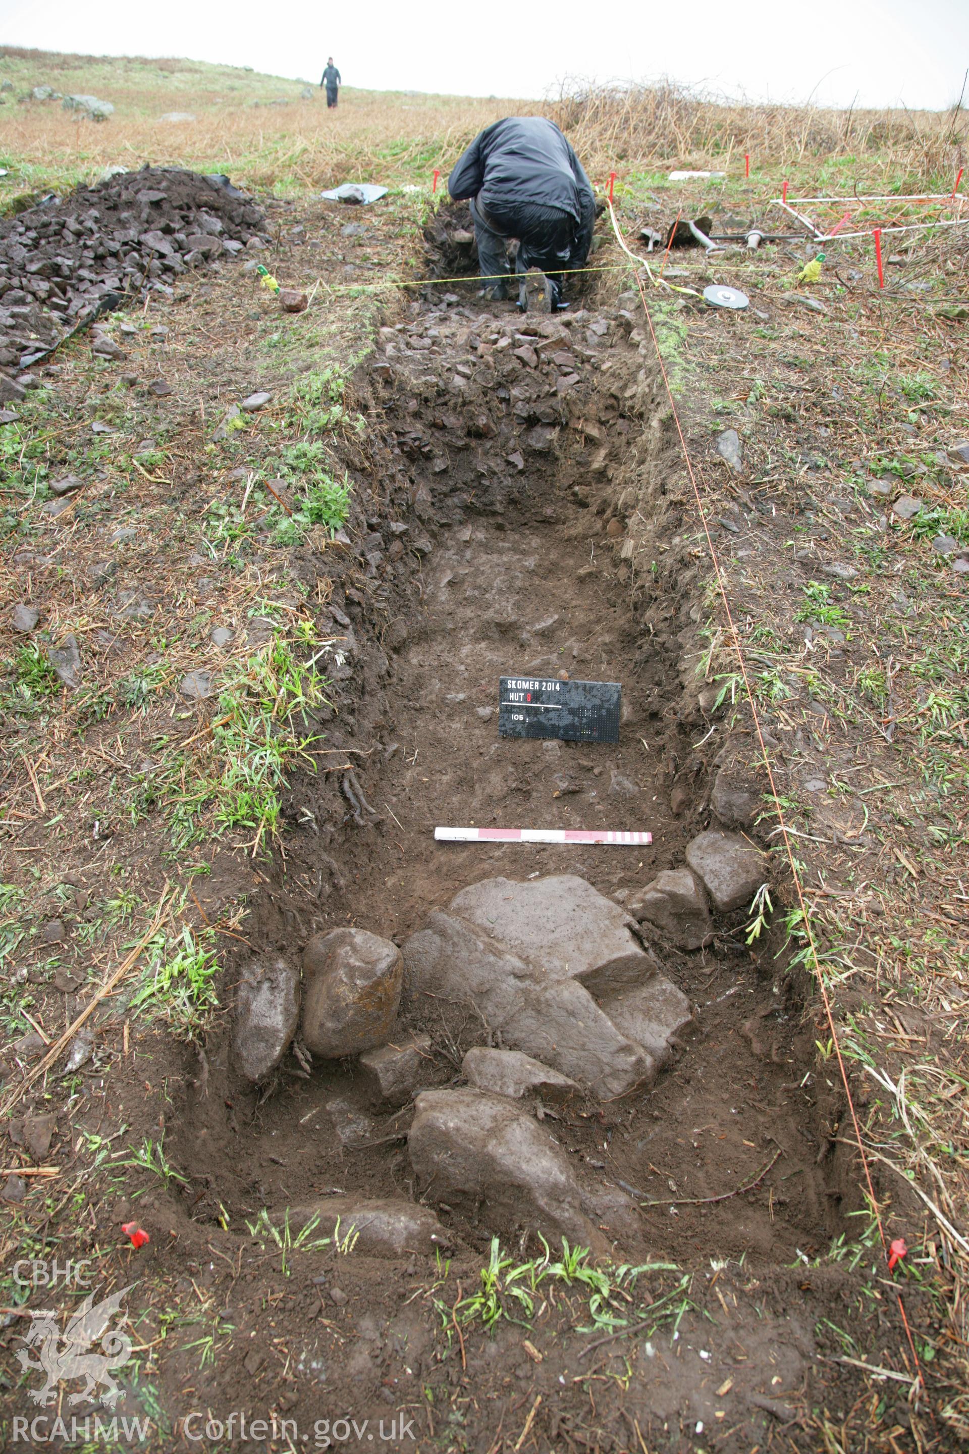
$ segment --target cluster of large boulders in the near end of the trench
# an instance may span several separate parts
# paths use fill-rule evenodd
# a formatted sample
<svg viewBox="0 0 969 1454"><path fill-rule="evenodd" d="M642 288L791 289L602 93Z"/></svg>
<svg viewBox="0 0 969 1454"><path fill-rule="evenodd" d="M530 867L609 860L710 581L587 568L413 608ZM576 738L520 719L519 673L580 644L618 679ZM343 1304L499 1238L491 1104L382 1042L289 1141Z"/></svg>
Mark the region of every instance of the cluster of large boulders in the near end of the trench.
<svg viewBox="0 0 969 1454"><path fill-rule="evenodd" d="M315 935L302 989L295 965L256 960L237 992L237 1070L266 1083L291 1045L304 1067L359 1057L353 1095L325 1104L344 1146L407 1140L417 1186L439 1207L490 1232L539 1230L604 1253L636 1234L633 1202L577 1170L546 1108L649 1085L689 1031L693 1008L636 920L696 949L715 915L750 903L764 867L722 830L700 833L686 856L689 867L661 872L626 907L572 874L488 878L400 948L356 928ZM376 1131L381 1109L391 1136ZM430 1208L402 1200L301 1208L314 1213L357 1227L384 1256L453 1240Z"/></svg>

